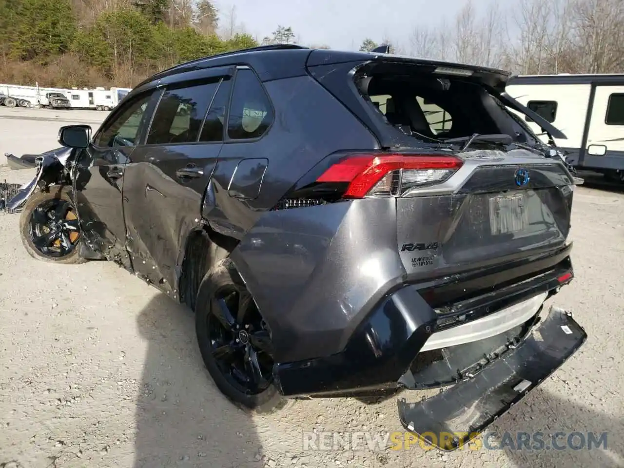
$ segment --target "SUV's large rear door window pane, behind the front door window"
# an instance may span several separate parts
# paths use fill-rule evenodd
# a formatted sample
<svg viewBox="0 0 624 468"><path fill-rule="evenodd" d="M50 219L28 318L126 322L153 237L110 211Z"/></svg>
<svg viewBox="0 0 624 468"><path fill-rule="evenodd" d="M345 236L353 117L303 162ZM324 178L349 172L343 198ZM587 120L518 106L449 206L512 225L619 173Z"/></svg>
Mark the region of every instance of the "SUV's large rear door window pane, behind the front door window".
<svg viewBox="0 0 624 468"><path fill-rule="evenodd" d="M218 80L215 79L205 84L167 89L158 102L146 143L196 142L217 85Z"/></svg>

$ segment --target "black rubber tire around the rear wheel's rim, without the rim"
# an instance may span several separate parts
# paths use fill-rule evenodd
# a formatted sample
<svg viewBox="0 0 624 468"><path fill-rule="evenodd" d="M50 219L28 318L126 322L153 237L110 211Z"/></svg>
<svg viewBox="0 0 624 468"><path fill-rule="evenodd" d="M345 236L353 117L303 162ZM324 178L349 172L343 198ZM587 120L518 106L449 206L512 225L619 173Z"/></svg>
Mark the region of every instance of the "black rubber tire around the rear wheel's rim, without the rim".
<svg viewBox="0 0 624 468"><path fill-rule="evenodd" d="M236 271L232 260L225 258L225 260L217 263L212 270L208 271L207 275L203 278L197 294L197 301L195 302L195 332L197 334L197 343L199 345L200 352L202 353L203 362L208 369L208 373L210 373L210 376L217 385L217 388L233 404L238 406L240 409L243 409L243 411L267 413L284 409L287 404L292 401L289 401L285 397L281 396L280 392L276 388L273 381L272 368L270 377L266 378L268 386L261 389L261 391L249 393L243 391L241 386L233 383L235 378L231 374L227 374L223 371L224 364L215 358L215 355L213 354L213 344L211 339L214 336L214 332L212 330L219 328L220 326L220 323L216 318L217 315L215 314L215 310L217 309L217 306L215 305L215 297L219 297L221 291L230 289L242 289L246 291L245 284L241 280L240 275L238 275L238 271ZM258 317L260 317L260 313L255 308L253 300L251 301L251 305L251 309L255 311L255 314L257 314ZM250 316L251 315L253 314L250 313ZM251 325L250 329L256 329L255 324ZM242 324L241 330L243 330ZM260 330L259 333L267 332L265 330ZM249 336L253 335L254 333L249 334ZM248 339L248 341L251 344L251 339ZM244 348L241 344L236 346L240 346L241 349ZM222 348L225 348L225 346L222 346ZM266 358L267 355L266 353L260 352L258 353L258 356ZM256 359L256 362L259 361L260 359Z"/></svg>

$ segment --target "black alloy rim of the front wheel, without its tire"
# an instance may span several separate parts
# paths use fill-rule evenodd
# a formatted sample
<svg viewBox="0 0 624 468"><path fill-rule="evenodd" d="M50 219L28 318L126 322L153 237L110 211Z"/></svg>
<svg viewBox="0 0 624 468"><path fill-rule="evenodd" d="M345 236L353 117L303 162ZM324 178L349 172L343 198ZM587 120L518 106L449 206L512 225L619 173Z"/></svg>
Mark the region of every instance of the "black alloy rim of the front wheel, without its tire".
<svg viewBox="0 0 624 468"><path fill-rule="evenodd" d="M62 258L78 244L80 226L76 210L62 198L47 198L32 210L28 233L32 245L45 256Z"/></svg>

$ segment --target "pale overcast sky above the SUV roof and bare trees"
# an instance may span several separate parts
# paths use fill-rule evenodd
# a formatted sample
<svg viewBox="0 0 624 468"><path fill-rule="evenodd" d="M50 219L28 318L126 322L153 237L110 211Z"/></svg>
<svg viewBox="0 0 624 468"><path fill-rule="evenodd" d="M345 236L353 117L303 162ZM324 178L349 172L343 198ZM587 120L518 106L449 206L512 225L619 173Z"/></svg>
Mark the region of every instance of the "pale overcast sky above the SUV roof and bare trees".
<svg viewBox="0 0 624 468"><path fill-rule="evenodd" d="M220 24L236 6L236 22L262 39L278 25L291 26L305 45L358 49L366 37L384 36L402 44L416 25L437 24L443 14L452 19L465 0L215 0ZM477 6L479 1L474 2Z"/></svg>

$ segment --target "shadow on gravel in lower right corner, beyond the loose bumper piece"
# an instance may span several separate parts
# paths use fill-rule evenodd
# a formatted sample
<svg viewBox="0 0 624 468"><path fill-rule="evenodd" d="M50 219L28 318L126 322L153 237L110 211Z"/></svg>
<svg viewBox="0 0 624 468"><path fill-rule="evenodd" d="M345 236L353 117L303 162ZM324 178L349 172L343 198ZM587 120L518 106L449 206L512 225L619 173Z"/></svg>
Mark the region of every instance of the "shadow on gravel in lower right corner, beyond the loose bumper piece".
<svg viewBox="0 0 624 468"><path fill-rule="evenodd" d="M573 391L570 394L573 395ZM608 404L605 407L608 407ZM624 466L624 444L622 444L624 424L618 416L595 411L583 406L582 402L575 404L540 388L529 394L516 410L500 419L482 436L483 439L487 437L487 432L494 432L497 437L492 437L490 447L505 446L505 455L514 466L548 468ZM522 443L519 442L519 432L529 434L528 445L532 449L527 449L526 445L520 447ZM505 436L505 433L509 436ZM601 439L604 433L606 439ZM546 448L553 446L553 438L554 444L560 449ZM503 439L506 441L505 444L501 443ZM543 449L539 449L540 439L544 441ZM590 439L592 448L588 449ZM606 441L606 449L603 441Z"/></svg>

